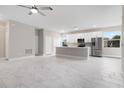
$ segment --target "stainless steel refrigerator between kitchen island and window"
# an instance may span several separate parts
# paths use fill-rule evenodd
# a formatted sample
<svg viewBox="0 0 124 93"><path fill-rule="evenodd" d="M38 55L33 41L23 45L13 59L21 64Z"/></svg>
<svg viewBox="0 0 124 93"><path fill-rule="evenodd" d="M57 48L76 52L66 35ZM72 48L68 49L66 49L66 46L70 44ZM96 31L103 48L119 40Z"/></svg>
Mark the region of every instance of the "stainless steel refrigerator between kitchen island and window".
<svg viewBox="0 0 124 93"><path fill-rule="evenodd" d="M91 38L91 56L102 57L102 38Z"/></svg>

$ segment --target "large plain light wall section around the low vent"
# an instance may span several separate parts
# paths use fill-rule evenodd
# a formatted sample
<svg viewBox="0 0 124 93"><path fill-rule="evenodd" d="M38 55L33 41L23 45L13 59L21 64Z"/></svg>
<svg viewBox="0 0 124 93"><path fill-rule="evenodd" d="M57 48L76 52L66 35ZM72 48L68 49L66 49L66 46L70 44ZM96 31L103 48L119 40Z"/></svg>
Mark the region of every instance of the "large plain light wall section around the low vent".
<svg viewBox="0 0 124 93"><path fill-rule="evenodd" d="M23 23L9 21L9 58L35 55L34 27ZM25 54L25 49L32 49L31 54Z"/></svg>

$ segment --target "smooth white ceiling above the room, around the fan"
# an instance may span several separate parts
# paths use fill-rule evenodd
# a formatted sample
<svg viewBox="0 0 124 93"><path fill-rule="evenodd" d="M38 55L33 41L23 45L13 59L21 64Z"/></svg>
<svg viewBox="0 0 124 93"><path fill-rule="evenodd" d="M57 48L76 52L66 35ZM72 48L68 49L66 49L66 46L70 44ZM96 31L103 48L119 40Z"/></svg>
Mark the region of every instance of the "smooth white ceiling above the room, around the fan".
<svg viewBox="0 0 124 93"><path fill-rule="evenodd" d="M74 27L87 29L121 25L122 6L51 6L53 11L43 11L47 16L28 15L29 10L15 6L0 6L0 15L8 19L51 31L72 31Z"/></svg>

